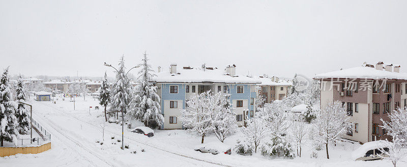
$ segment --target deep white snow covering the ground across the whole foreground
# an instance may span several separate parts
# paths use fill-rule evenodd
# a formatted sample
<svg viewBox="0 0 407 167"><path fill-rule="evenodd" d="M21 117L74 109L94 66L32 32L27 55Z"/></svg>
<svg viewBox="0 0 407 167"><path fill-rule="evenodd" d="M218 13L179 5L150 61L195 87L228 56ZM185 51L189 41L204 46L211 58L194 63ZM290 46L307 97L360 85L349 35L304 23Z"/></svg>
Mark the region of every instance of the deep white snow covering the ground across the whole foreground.
<svg viewBox="0 0 407 167"><path fill-rule="evenodd" d="M33 104L33 118L51 133L51 149L39 154L17 154L0 157L0 166L392 166L388 160L354 161L352 152L360 144L339 142L329 146L330 159L325 149L311 158L311 149L306 141L302 157L276 159L257 153L252 156L200 153L194 151L201 137L184 130L155 129L153 137L130 132L125 125L124 143L128 149L121 150L120 124L105 123L103 107L90 96L75 98L57 95L50 101L29 100ZM92 108L90 108L92 106ZM95 109L100 106L100 109ZM130 122L132 128L142 126ZM102 127L104 138L102 137ZM111 138L114 137L112 140ZM234 148L241 133L226 138L225 144ZM205 137L205 143L219 142L215 135ZM103 143L103 145L101 145ZM407 163L400 162L398 166Z"/></svg>

